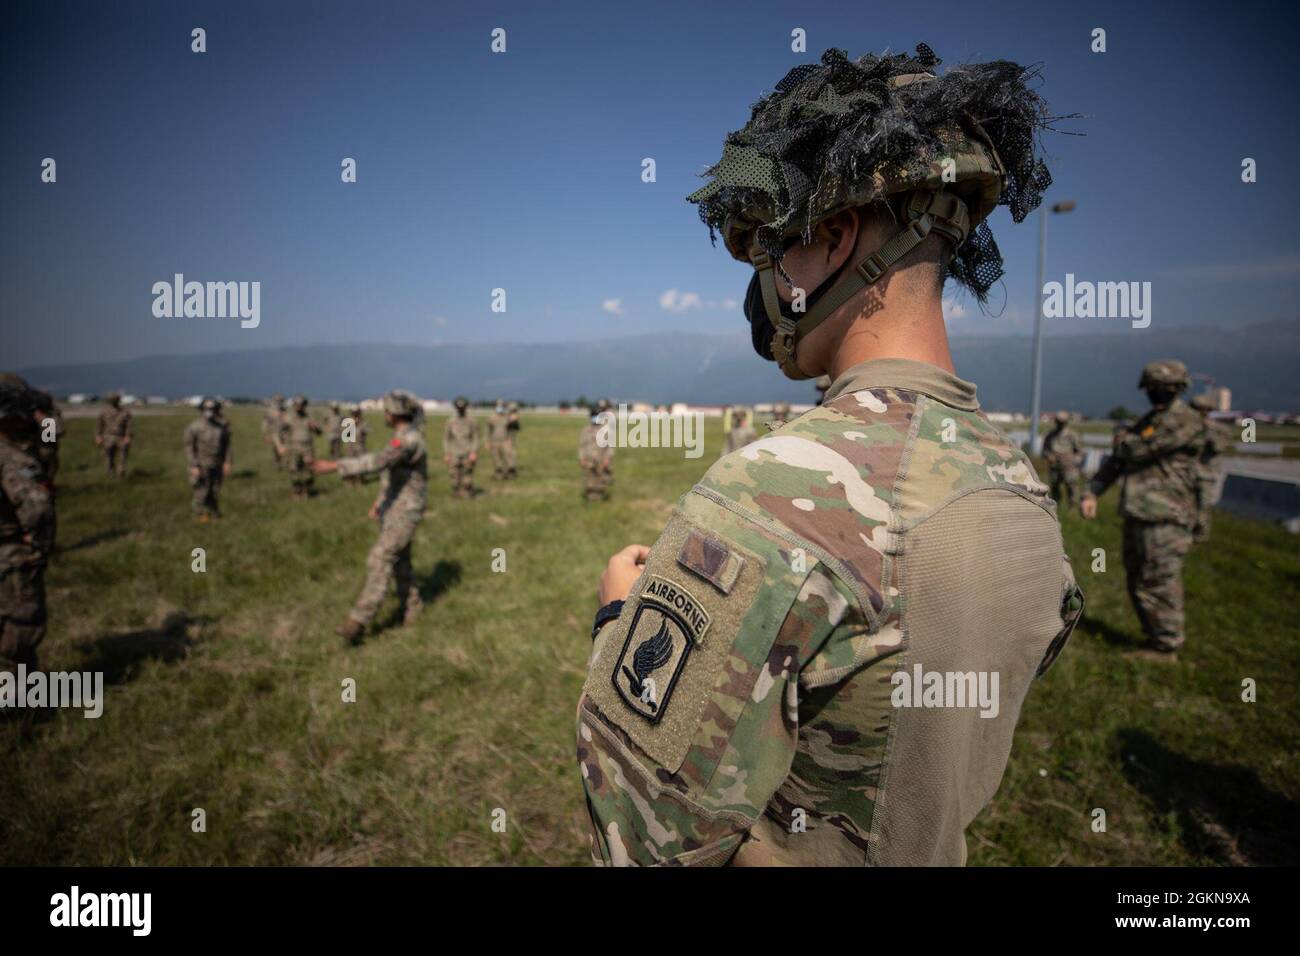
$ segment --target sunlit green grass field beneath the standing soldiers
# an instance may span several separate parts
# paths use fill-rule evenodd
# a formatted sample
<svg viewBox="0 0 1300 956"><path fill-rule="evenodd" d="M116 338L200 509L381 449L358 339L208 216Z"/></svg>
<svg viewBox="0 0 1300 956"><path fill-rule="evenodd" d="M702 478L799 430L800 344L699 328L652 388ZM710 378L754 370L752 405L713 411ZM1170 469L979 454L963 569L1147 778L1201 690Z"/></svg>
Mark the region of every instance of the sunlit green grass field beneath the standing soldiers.
<svg viewBox="0 0 1300 956"><path fill-rule="evenodd" d="M594 505L578 416L525 418L520 479L491 483L481 463L473 501L450 497L438 459L415 545L425 611L400 627L390 598L391 626L348 649L333 627L361 583L374 485L328 476L291 501L260 412L235 410L228 516L195 524L186 421L136 418L125 484L104 476L92 421L69 421L42 662L103 670L108 698L98 721L0 719L0 862L585 862L573 727L595 584L611 551L654 540L711 457L620 451L614 497ZM373 447L386 432L370 425ZM1124 653L1138 623L1114 494L1102 505L1096 523L1065 518L1086 619L1030 696L971 864L1300 862L1296 538L1219 514L1187 568L1187 648L1148 663ZM1095 548L1105 572L1089 570ZM1247 678L1258 702L1242 701Z"/></svg>

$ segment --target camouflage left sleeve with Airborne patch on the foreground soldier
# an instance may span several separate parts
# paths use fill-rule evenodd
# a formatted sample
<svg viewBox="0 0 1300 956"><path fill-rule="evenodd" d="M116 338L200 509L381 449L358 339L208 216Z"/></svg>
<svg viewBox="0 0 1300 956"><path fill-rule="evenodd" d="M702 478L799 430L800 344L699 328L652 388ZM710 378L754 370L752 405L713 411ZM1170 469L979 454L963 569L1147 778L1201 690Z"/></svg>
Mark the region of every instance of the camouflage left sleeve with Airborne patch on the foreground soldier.
<svg viewBox="0 0 1300 956"><path fill-rule="evenodd" d="M845 604L789 544L688 494L597 636L577 740L597 862L725 864L786 779L800 671Z"/></svg>

